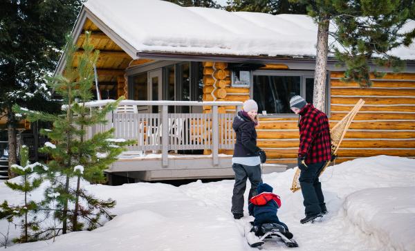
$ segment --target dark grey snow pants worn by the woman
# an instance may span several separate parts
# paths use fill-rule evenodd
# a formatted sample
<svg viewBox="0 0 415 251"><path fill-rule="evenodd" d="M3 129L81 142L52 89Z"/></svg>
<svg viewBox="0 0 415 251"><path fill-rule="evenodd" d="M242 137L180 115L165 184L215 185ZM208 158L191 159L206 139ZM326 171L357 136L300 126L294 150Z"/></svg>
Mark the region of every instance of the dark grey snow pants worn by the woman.
<svg viewBox="0 0 415 251"><path fill-rule="evenodd" d="M261 166L248 166L234 163L232 169L235 173L235 184L232 195L232 214L243 214L243 194L246 189L246 180L249 178L251 188L248 201L257 195L258 184L261 183Z"/></svg>

